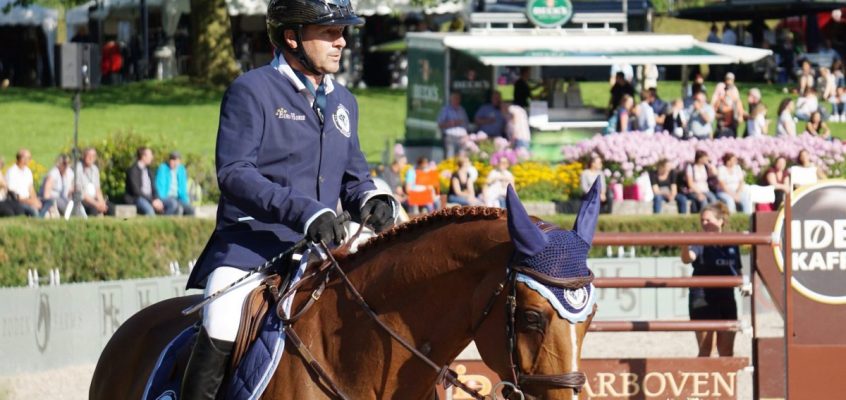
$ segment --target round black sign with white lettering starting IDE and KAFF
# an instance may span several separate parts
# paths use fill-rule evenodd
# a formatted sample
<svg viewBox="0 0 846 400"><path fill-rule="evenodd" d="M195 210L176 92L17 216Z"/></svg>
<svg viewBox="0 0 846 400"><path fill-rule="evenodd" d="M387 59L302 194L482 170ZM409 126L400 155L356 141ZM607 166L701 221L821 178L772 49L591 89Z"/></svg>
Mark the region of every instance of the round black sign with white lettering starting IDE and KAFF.
<svg viewBox="0 0 846 400"><path fill-rule="evenodd" d="M803 296L827 304L846 304L846 180L822 181L793 195L791 261L793 287ZM784 243L784 209L775 233ZM773 248L784 272L784 252Z"/></svg>

